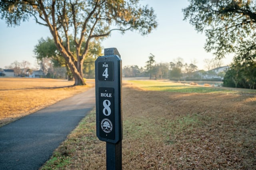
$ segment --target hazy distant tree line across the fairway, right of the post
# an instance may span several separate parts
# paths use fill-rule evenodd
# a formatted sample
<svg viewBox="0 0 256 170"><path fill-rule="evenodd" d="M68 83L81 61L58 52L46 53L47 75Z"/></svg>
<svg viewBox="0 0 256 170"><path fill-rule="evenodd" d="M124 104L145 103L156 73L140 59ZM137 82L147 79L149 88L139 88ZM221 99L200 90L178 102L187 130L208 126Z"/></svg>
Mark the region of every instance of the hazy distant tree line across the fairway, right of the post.
<svg viewBox="0 0 256 170"><path fill-rule="evenodd" d="M222 64L221 62L214 61L214 59L209 61L207 65L213 69L220 67ZM149 79L171 79L174 81L181 79L202 79L205 71L196 71L198 71L198 67L195 61L194 63L188 64L184 63L183 59L178 57L170 63L156 63L155 56L150 53L144 67L138 67L138 65L125 66L122 69L122 75L124 77L149 77Z"/></svg>

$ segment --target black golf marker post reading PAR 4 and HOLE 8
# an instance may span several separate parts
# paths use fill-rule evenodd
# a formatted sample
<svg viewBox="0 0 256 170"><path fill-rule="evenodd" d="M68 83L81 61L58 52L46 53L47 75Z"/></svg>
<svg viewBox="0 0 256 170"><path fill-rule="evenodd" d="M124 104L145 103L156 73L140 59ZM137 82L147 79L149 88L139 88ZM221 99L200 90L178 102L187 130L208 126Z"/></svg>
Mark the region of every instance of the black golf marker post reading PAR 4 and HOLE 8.
<svg viewBox="0 0 256 170"><path fill-rule="evenodd" d="M122 60L116 48L95 61L96 133L106 141L106 169L122 169Z"/></svg>

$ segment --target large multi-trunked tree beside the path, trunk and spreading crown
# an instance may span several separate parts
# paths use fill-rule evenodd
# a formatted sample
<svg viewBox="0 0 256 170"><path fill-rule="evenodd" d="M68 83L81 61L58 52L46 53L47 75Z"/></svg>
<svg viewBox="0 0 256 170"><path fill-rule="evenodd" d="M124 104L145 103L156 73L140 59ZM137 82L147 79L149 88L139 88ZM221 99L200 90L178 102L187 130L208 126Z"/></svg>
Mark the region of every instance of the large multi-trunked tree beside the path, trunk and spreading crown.
<svg viewBox="0 0 256 170"><path fill-rule="evenodd" d="M107 37L114 30L138 30L146 35L157 26L154 10L140 6L140 0L1 0L0 15L9 26L30 17L47 26L75 85L85 84L82 70L90 40ZM70 36L75 53L70 50Z"/></svg>

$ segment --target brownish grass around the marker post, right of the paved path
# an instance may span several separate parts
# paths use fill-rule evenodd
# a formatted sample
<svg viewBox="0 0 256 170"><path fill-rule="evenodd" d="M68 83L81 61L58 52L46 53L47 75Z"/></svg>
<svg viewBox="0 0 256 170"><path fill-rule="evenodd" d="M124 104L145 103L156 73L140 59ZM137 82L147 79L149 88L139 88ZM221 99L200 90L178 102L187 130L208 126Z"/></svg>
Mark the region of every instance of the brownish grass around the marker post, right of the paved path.
<svg viewBox="0 0 256 170"><path fill-rule="evenodd" d="M255 169L254 91L176 86L123 83L123 169ZM95 119L92 111L42 169L106 169Z"/></svg>

